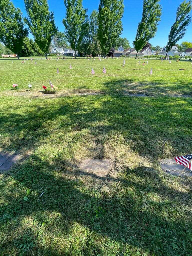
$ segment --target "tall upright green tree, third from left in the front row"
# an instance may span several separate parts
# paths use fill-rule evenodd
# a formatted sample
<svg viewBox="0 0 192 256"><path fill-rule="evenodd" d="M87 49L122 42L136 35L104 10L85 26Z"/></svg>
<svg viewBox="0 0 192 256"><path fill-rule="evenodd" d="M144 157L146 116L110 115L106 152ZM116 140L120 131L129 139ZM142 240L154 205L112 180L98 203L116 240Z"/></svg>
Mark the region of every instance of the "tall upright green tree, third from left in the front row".
<svg viewBox="0 0 192 256"><path fill-rule="evenodd" d="M66 17L63 19L65 34L71 48L75 51L80 46L84 35L87 33L87 9L82 6L82 0L64 0Z"/></svg>

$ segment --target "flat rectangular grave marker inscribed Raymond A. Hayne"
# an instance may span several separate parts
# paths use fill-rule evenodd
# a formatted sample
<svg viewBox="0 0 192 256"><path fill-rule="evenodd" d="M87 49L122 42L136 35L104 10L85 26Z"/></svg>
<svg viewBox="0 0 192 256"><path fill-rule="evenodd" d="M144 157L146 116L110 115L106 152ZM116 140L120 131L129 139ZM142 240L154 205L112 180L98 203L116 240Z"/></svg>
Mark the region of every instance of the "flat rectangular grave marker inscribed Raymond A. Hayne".
<svg viewBox="0 0 192 256"><path fill-rule="evenodd" d="M97 176L106 176L110 170L109 159L83 159L78 163L79 169L86 171L87 173L93 173Z"/></svg>

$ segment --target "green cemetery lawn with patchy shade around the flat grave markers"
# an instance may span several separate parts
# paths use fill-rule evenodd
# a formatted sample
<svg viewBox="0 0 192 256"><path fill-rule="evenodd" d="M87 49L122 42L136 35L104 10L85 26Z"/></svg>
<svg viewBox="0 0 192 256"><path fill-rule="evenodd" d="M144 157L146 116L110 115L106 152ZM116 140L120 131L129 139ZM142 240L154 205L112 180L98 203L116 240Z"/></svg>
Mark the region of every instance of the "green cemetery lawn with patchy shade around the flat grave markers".
<svg viewBox="0 0 192 256"><path fill-rule="evenodd" d="M191 61L36 61L0 60L0 151L22 156L0 174L0 255L192 255L192 180L159 166L192 151Z"/></svg>

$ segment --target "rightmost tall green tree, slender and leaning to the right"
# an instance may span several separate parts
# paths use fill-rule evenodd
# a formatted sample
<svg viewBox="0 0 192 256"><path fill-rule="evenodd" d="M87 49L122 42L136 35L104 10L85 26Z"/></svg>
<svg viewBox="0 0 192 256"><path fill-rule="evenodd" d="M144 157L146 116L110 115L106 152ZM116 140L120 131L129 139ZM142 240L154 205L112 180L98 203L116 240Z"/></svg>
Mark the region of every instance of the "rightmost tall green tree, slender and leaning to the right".
<svg viewBox="0 0 192 256"><path fill-rule="evenodd" d="M191 17L189 15L191 8L191 1L183 1L183 3L181 3L177 8L176 20L173 26L171 27L168 42L166 45L167 52L165 58L167 57L168 51L171 50L171 48L176 44L176 42L184 37L185 32L187 30L187 26L191 22Z"/></svg>

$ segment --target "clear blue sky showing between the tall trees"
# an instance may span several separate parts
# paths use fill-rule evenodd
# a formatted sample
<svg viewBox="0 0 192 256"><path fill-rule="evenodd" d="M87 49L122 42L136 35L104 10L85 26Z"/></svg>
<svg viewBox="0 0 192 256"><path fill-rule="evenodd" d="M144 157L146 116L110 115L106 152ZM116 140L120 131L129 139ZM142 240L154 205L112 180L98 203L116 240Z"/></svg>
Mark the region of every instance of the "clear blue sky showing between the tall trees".
<svg viewBox="0 0 192 256"><path fill-rule="evenodd" d="M24 0L12 0L15 7L19 7L26 16ZM88 14L90 15L94 9L98 10L99 0L83 0L84 8L88 8ZM176 17L176 10L179 4L183 2L182 0L161 0L160 4L162 6L162 16L159 22L156 36L150 40L153 46L160 45L165 46L168 40L168 34L171 26L173 25ZM55 22L58 29L64 32L64 26L62 24L62 19L65 17L65 5L63 0L48 0L49 10L54 12ZM126 37L132 42L135 38L138 22L141 20L142 16L142 0L124 0L124 15L122 18L123 32L121 37ZM32 37L30 35L30 37ZM192 42L192 23L188 26L187 32L182 41Z"/></svg>

